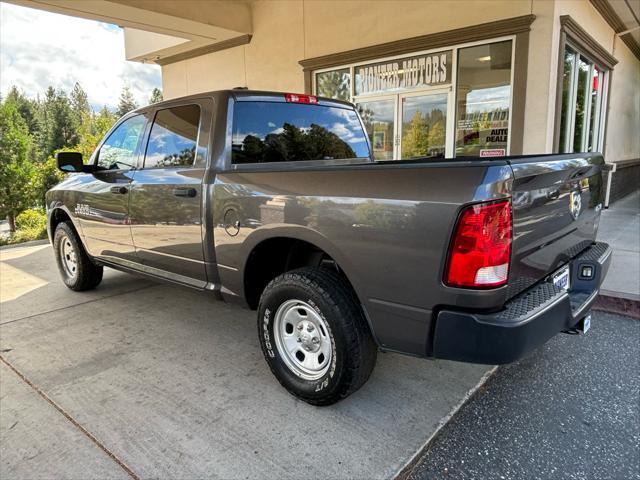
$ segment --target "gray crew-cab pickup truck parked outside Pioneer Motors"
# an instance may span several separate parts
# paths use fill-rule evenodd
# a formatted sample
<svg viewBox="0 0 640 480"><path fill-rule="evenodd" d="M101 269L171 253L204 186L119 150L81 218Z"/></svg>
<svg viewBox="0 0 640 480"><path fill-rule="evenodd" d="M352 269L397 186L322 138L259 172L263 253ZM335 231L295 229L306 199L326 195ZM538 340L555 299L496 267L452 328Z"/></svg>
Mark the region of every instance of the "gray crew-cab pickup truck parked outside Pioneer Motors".
<svg viewBox="0 0 640 480"><path fill-rule="evenodd" d="M328 405L378 350L512 362L586 331L611 258L600 154L374 162L354 105L249 90L129 113L47 193L62 279L104 266L258 311L264 356Z"/></svg>

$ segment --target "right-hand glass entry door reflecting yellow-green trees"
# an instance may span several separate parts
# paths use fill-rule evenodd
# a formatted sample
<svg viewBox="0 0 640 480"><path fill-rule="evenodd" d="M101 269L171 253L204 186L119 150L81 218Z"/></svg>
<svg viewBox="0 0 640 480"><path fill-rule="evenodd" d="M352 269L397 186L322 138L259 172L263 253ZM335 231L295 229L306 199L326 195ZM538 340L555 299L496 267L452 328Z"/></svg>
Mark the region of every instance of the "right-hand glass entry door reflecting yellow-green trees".
<svg viewBox="0 0 640 480"><path fill-rule="evenodd" d="M400 95L400 157L444 158L449 92Z"/></svg>

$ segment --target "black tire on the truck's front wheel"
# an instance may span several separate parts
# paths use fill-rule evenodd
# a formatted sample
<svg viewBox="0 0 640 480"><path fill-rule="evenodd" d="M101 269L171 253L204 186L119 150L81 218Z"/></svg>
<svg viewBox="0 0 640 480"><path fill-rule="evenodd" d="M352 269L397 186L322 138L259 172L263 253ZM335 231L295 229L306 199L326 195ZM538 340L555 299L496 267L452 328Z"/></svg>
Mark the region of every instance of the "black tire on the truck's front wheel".
<svg viewBox="0 0 640 480"><path fill-rule="evenodd" d="M75 265L70 271L70 261L63 259L67 257L63 252L63 245L66 251L75 254ZM102 281L103 267L93 263L70 222L60 222L53 234L53 252L58 264L58 270L64 284L71 290L81 292L96 288ZM67 257L68 258L68 257Z"/></svg>

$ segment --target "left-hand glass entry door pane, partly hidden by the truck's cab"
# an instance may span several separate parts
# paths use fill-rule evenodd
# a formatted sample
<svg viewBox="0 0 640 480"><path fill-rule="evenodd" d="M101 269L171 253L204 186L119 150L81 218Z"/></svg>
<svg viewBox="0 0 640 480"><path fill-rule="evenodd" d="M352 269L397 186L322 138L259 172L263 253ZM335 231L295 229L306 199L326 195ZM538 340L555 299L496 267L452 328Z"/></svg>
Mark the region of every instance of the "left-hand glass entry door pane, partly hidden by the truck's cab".
<svg viewBox="0 0 640 480"><path fill-rule="evenodd" d="M358 103L374 160L393 160L395 104L394 99Z"/></svg>

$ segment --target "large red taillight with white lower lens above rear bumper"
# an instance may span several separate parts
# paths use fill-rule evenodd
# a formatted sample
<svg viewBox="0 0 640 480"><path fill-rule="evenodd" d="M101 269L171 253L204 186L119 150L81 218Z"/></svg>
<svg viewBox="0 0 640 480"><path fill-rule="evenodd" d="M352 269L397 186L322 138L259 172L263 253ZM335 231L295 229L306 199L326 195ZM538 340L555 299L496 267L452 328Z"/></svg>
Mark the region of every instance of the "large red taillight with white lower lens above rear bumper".
<svg viewBox="0 0 640 480"><path fill-rule="evenodd" d="M507 283L511 258L511 201L465 208L449 249L445 283L498 287Z"/></svg>

